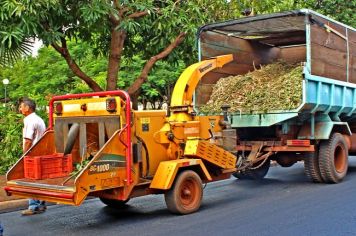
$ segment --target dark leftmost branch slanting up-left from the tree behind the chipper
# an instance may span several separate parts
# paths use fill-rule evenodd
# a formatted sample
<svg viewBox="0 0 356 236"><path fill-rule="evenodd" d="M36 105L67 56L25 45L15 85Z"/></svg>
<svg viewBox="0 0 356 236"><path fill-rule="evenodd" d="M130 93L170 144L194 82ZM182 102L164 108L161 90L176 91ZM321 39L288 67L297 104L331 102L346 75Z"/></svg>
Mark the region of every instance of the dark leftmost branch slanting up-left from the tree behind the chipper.
<svg viewBox="0 0 356 236"><path fill-rule="evenodd" d="M67 42L64 38L61 39L62 47L57 43L52 43L52 47L61 54L61 56L66 60L69 68L73 73L82 79L93 91L98 92L103 89L89 76L87 76L78 66L78 64L73 60L67 48Z"/></svg>

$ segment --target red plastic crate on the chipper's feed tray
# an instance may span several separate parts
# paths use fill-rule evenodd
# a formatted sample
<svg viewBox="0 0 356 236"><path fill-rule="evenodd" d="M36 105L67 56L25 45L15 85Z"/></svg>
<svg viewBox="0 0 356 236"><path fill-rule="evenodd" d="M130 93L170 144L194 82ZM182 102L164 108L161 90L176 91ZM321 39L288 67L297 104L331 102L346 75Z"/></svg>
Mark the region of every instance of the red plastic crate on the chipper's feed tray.
<svg viewBox="0 0 356 236"><path fill-rule="evenodd" d="M72 155L55 153L45 156L25 156L25 178L51 179L67 176L72 172Z"/></svg>

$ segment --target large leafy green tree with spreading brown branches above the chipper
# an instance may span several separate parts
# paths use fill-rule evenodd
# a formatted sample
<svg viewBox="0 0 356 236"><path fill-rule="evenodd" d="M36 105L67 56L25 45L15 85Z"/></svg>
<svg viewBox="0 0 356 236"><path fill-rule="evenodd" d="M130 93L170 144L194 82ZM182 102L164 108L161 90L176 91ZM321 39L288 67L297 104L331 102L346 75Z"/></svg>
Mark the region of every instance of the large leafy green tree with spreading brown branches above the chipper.
<svg viewBox="0 0 356 236"><path fill-rule="evenodd" d="M3 0L0 3L0 55L4 48L28 50L27 42L41 39L65 59L74 75L92 90L117 88L121 57L140 55L145 64L137 80L128 88L136 94L154 64L195 61L196 28L202 24L237 18L245 8L256 13L299 8L293 0ZM107 57L105 85L78 65L68 42L88 43L96 56ZM179 50L174 50L178 45ZM18 50L20 48L20 50ZM10 50L11 52L11 50ZM7 54L7 55L11 55ZM10 56L8 56L11 58ZM4 57L4 58L8 58ZM76 56L76 58L78 58Z"/></svg>

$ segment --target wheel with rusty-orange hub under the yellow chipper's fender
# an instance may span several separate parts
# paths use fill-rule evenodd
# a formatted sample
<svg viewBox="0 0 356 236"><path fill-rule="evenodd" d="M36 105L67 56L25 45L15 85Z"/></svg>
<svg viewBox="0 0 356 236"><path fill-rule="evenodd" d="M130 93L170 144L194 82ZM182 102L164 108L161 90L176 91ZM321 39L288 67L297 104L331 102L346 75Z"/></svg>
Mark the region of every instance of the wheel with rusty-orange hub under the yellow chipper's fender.
<svg viewBox="0 0 356 236"><path fill-rule="evenodd" d="M192 170L181 172L172 188L164 194L168 210L182 215L197 211L202 197L202 181L199 175Z"/></svg>

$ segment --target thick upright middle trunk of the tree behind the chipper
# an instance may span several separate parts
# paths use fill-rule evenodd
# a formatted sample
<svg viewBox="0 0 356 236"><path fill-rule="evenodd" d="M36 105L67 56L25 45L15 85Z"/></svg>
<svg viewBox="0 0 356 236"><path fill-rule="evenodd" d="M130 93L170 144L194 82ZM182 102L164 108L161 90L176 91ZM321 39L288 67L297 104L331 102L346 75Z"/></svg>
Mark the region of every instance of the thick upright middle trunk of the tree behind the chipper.
<svg viewBox="0 0 356 236"><path fill-rule="evenodd" d="M110 54L108 63L108 77L106 80L106 90L115 90L117 85L118 72L120 69L121 54L124 47L126 33L122 30L111 32Z"/></svg>

